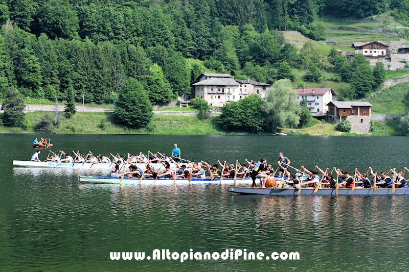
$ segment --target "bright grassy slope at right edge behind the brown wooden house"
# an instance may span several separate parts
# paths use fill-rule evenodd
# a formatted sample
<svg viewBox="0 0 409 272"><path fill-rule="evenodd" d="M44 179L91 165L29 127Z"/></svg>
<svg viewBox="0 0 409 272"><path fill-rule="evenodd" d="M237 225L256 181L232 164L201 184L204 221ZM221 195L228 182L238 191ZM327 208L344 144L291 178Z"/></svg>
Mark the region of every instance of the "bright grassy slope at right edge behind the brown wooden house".
<svg viewBox="0 0 409 272"><path fill-rule="evenodd" d="M405 114L403 108L403 97L409 88L409 82L402 82L384 89L381 93L365 98L362 101L369 102L373 105L372 113L381 114Z"/></svg>

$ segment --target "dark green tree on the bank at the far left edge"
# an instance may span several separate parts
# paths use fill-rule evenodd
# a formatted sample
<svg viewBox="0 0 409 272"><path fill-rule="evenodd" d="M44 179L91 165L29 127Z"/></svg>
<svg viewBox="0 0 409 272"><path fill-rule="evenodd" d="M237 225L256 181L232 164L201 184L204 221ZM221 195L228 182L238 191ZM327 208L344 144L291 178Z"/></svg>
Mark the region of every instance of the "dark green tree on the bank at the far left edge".
<svg viewBox="0 0 409 272"><path fill-rule="evenodd" d="M22 95L17 90L10 88L2 106L2 110L4 110L2 118L4 125L7 127L24 127L26 119L25 107Z"/></svg>

